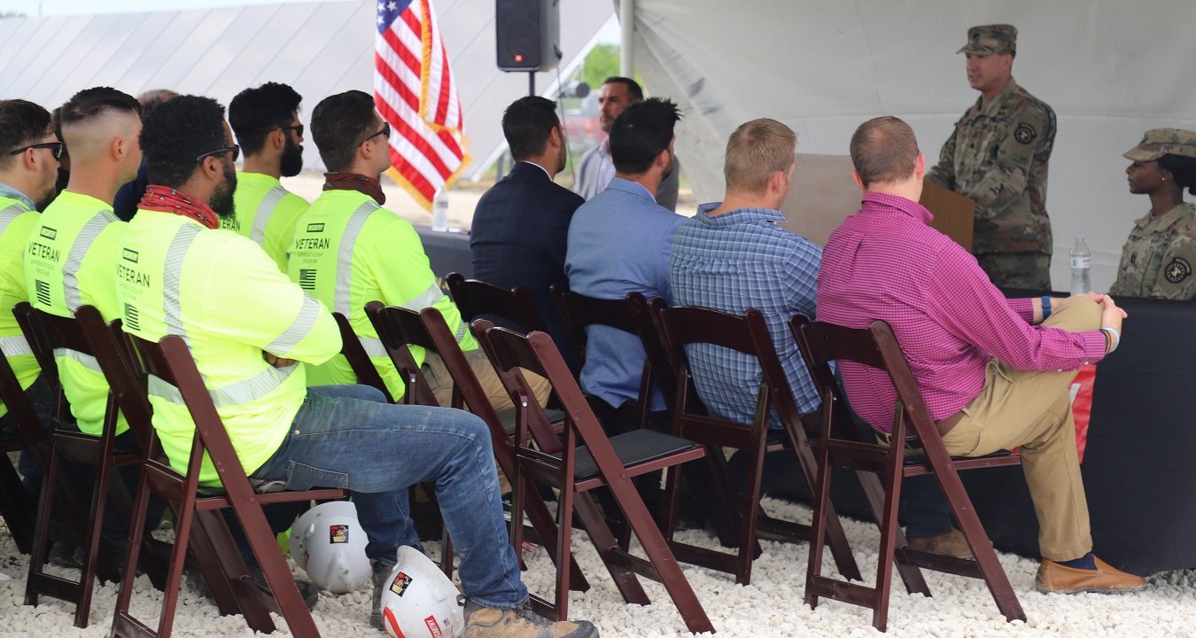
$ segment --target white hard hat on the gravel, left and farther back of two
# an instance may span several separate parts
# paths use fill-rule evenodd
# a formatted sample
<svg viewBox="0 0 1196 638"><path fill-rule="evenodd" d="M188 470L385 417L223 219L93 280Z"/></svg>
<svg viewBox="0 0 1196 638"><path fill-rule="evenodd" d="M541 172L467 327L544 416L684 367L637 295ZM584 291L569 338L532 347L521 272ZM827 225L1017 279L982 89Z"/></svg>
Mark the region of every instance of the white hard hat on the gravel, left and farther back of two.
<svg viewBox="0 0 1196 638"><path fill-rule="evenodd" d="M321 589L348 594L370 582L366 533L348 500L323 503L291 525L291 558Z"/></svg>

